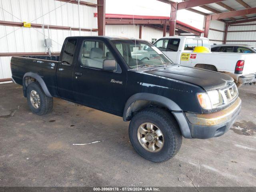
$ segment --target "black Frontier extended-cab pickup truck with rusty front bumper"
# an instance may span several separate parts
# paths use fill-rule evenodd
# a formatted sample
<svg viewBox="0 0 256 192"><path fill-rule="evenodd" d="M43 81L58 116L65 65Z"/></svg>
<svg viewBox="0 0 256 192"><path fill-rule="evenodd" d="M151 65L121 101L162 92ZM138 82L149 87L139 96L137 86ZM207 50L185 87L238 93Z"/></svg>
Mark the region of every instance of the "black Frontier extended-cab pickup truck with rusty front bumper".
<svg viewBox="0 0 256 192"><path fill-rule="evenodd" d="M52 110L53 97L130 121L132 146L163 162L184 138L223 135L241 109L230 76L173 64L144 40L68 37L60 56L12 57L12 79L33 113Z"/></svg>

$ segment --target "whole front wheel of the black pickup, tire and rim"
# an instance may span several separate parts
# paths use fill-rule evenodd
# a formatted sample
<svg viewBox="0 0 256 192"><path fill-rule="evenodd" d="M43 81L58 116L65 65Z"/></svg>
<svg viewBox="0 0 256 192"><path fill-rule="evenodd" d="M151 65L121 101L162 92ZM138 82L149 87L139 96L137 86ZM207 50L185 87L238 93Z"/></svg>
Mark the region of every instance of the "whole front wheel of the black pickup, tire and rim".
<svg viewBox="0 0 256 192"><path fill-rule="evenodd" d="M135 151L152 162L169 160L182 144L182 134L176 120L160 108L138 112L130 122L129 137Z"/></svg>

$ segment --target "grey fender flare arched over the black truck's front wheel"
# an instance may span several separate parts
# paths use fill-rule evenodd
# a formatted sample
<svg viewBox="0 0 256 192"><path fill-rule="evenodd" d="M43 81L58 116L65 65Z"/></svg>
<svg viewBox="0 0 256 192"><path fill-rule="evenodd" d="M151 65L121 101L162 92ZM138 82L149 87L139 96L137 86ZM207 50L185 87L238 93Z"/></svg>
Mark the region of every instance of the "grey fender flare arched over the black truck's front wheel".
<svg viewBox="0 0 256 192"><path fill-rule="evenodd" d="M132 108L134 107L134 104L138 100L146 100L146 101L152 101L161 104L162 106L165 106L172 112L174 117L176 118L180 130L182 132L182 135L185 138L192 138L190 133L190 128L188 126L188 122L186 120L186 117L184 115L184 112L182 109L176 104L174 101L160 95L151 94L151 93L137 93L132 95L126 102L124 107L124 113L123 113L123 120L128 121L131 119L132 115Z"/></svg>

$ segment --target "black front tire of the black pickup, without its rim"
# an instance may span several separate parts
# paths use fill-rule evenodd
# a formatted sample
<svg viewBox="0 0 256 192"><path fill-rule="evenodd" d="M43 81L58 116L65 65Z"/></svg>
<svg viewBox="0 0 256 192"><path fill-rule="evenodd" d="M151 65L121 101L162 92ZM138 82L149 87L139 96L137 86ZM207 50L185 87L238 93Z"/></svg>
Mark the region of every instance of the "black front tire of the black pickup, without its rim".
<svg viewBox="0 0 256 192"><path fill-rule="evenodd" d="M143 123L152 123L162 131L164 144L158 152L146 150L138 139L138 128ZM160 108L147 108L136 114L129 125L129 137L135 151L152 162L164 162L174 157L180 150L182 134L175 118L168 111Z"/></svg>

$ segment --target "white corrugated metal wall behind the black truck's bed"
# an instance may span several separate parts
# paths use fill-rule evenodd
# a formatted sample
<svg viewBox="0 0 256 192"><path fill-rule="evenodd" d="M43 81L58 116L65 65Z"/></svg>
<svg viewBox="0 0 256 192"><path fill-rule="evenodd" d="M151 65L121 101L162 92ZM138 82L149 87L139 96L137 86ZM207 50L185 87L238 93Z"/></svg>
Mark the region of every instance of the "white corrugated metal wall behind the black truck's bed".
<svg viewBox="0 0 256 192"><path fill-rule="evenodd" d="M86 1L96 3L96 0ZM0 0L0 7L10 13L0 8L0 20L79 27L77 4L56 0ZM47 14L48 12L50 13ZM81 5L80 27L97 28L97 18L93 16L96 12L97 8ZM48 30L45 29L44 32L48 36ZM52 52L59 52L64 39L70 35L78 36L80 32L72 31L70 34L68 30L49 30L49 36L53 40ZM81 35L90 36L91 32L81 32ZM97 35L97 32L92 32L92 35ZM44 51L42 29L0 26L0 52ZM0 79L10 77L10 57L0 57Z"/></svg>

